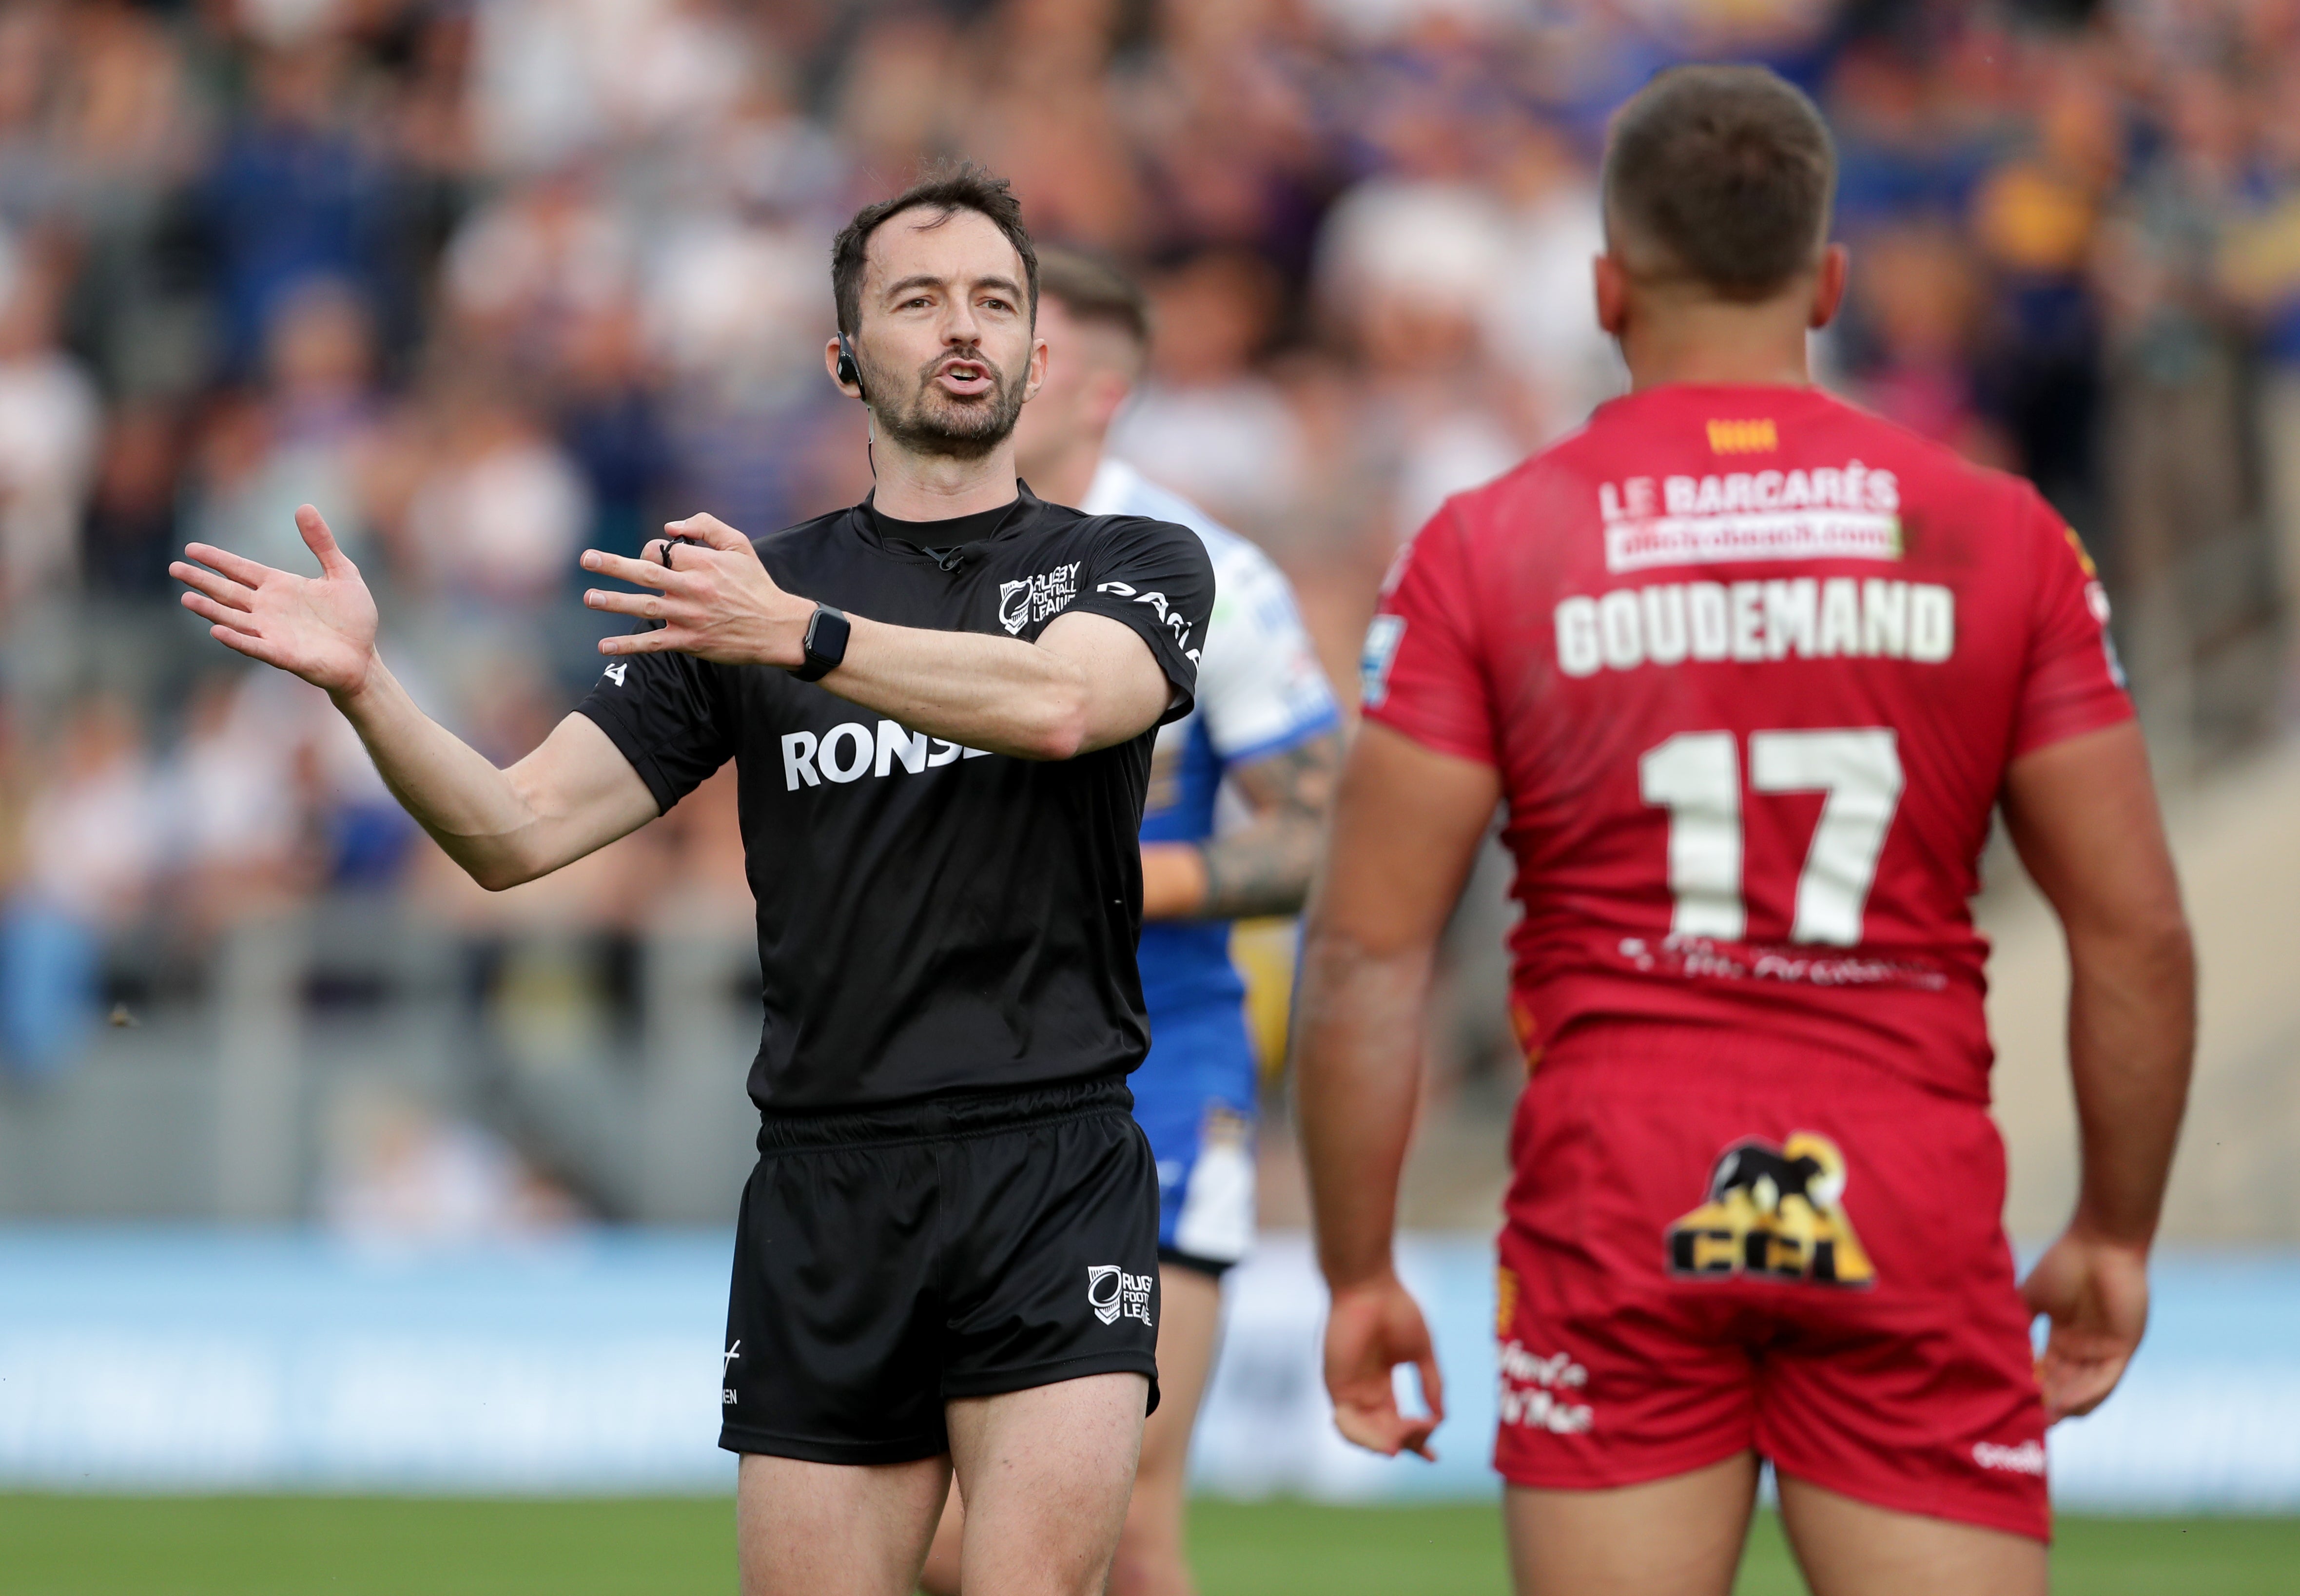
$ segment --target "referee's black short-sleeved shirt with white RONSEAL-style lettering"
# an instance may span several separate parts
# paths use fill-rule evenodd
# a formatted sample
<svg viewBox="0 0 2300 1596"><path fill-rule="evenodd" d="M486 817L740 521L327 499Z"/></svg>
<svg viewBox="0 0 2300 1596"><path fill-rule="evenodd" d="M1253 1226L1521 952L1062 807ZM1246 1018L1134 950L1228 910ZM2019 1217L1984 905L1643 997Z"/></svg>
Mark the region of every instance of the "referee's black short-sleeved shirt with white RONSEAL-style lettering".
<svg viewBox="0 0 2300 1596"><path fill-rule="evenodd" d="M1189 711L1214 570L1184 527L860 506L754 543L768 575L890 626L1035 639L1058 614L1132 626ZM628 669L626 669L628 667ZM736 761L759 904L761 1108L856 1108L1134 1069L1143 731L1065 761L913 734L768 665L639 653L580 706L669 809Z"/></svg>

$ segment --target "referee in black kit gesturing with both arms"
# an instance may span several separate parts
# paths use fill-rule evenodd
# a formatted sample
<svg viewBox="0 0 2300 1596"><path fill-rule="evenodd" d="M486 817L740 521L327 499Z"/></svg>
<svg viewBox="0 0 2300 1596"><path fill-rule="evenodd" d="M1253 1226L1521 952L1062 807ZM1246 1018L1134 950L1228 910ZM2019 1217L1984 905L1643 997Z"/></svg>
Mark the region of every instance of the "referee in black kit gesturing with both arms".
<svg viewBox="0 0 2300 1596"><path fill-rule="evenodd" d="M584 552L646 589L586 603L653 628L600 642L598 688L508 770L384 669L310 506L317 580L200 543L172 573L218 642L334 697L485 888L736 761L766 998L720 1430L743 1589L908 1591L957 1467L968 1589L1099 1591L1157 1405L1136 828L1214 575L1182 527L1021 488L1046 345L1003 179L865 207L830 278L876 490L757 543L695 515L646 561Z"/></svg>

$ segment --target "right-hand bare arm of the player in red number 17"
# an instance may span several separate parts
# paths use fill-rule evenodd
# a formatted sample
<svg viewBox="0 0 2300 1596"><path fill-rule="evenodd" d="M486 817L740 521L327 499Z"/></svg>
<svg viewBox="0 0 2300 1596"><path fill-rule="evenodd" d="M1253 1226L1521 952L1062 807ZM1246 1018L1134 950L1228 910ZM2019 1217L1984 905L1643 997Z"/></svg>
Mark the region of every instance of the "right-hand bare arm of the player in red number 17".
<svg viewBox="0 0 2300 1596"><path fill-rule="evenodd" d="M2015 759L2003 812L2068 938L2082 1180L2068 1230L2024 1283L2029 1306L2052 1315L2038 1378L2061 1419L2100 1405L2148 1322L2148 1244L2187 1104L2196 961L2134 722Z"/></svg>

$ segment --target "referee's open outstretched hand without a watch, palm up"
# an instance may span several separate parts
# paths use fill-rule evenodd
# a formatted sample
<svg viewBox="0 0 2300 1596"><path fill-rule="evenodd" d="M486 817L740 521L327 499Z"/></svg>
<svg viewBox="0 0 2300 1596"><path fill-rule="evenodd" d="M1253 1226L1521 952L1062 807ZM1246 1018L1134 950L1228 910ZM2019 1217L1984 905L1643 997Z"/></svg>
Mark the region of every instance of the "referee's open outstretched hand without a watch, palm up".
<svg viewBox="0 0 2300 1596"><path fill-rule="evenodd" d="M191 589L184 607L209 621L209 637L225 649L292 672L338 699L354 697L375 665L375 596L320 511L297 508L294 524L320 557L317 577L258 566L207 543L186 545L168 575Z"/></svg>

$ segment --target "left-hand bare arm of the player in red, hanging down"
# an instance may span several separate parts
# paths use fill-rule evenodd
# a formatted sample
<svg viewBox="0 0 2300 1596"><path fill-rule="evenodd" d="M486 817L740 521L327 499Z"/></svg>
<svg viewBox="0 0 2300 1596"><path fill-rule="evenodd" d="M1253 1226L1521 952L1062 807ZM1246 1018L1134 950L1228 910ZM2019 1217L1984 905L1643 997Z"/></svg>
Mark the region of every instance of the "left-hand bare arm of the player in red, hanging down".
<svg viewBox="0 0 2300 1596"><path fill-rule="evenodd" d="M1368 722L1341 773L1334 837L1311 895L1295 1019L1295 1095L1318 1267L1334 1292L1325 1382L1359 1447L1428 1453L1444 1417L1421 1311L1389 1240L1421 1097L1421 1035L1438 936L1500 803L1500 775ZM1426 1419L1389 1384L1421 1368Z"/></svg>

